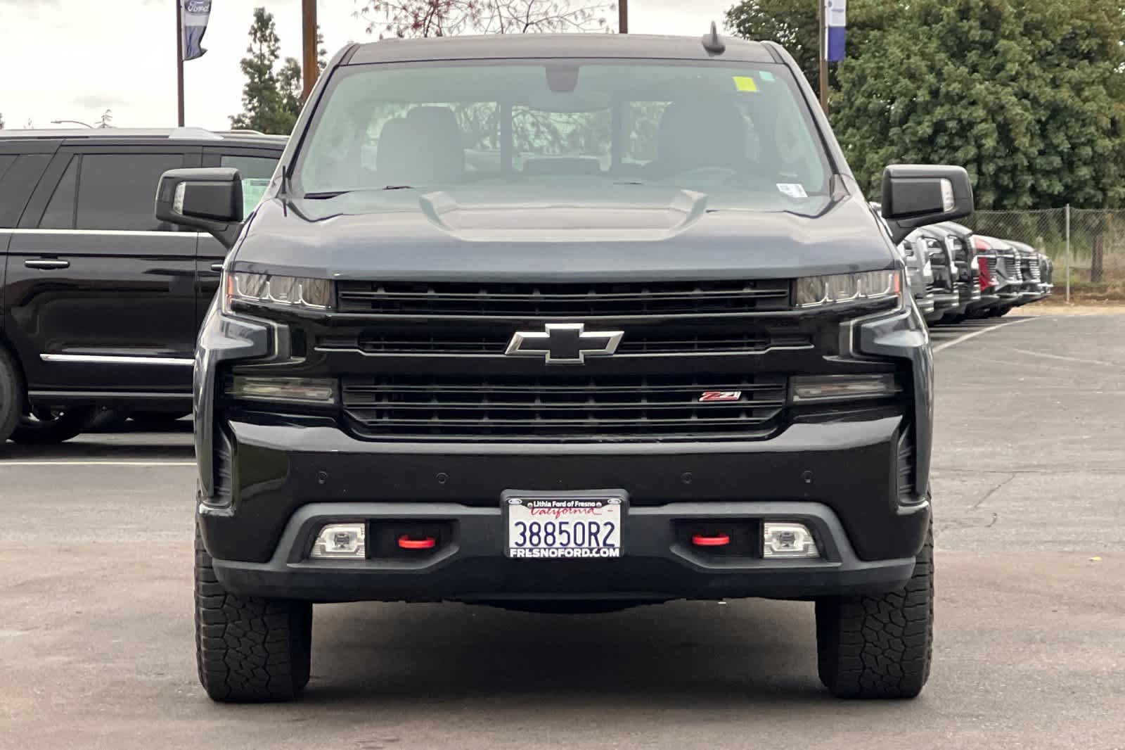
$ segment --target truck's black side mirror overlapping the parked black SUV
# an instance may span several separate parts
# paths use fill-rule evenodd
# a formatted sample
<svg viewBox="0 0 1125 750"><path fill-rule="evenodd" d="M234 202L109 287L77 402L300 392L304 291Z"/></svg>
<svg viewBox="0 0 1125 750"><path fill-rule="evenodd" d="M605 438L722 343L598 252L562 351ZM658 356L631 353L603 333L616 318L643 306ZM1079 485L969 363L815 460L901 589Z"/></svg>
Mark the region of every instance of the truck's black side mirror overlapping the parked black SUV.
<svg viewBox="0 0 1125 750"><path fill-rule="evenodd" d="M156 187L156 218L215 235L228 250L242 229L237 169L171 169Z"/></svg>

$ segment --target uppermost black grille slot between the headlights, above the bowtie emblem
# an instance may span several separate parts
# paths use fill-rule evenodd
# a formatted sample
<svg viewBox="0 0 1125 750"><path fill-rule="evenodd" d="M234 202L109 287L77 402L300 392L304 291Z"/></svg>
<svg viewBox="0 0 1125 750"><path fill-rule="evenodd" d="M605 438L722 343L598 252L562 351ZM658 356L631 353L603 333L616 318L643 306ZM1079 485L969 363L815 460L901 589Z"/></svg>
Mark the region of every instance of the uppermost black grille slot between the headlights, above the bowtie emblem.
<svg viewBox="0 0 1125 750"><path fill-rule="evenodd" d="M343 313L596 318L700 315L790 307L789 279L604 284L340 282Z"/></svg>

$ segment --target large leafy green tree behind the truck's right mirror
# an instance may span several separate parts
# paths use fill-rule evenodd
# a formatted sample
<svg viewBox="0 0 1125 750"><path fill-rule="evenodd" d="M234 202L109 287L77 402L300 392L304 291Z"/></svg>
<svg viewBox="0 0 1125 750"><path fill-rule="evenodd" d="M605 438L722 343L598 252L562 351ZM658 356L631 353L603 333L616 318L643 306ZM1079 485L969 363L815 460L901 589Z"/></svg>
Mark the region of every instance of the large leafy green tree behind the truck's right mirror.
<svg viewBox="0 0 1125 750"><path fill-rule="evenodd" d="M1119 0L915 0L842 63L834 130L868 195L950 162L981 208L1120 206L1123 37Z"/></svg>

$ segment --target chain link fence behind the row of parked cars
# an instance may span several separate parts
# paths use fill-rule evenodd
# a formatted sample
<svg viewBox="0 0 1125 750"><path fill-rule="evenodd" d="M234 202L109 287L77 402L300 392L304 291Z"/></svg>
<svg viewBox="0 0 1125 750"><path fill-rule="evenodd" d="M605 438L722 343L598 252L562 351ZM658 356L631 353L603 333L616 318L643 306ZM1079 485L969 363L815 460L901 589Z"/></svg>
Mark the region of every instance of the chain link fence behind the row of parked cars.
<svg viewBox="0 0 1125 750"><path fill-rule="evenodd" d="M965 222L978 234L1017 240L1054 261L1055 293L1125 301L1125 211L1046 208L978 211Z"/></svg>

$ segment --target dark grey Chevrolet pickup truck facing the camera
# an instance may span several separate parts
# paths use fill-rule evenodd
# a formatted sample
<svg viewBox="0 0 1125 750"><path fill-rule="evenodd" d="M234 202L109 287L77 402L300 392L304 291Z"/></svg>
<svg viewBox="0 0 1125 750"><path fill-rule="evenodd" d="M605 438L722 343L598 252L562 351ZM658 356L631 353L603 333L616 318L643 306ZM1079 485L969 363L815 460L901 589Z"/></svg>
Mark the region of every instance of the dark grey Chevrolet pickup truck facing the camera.
<svg viewBox="0 0 1125 750"><path fill-rule="evenodd" d="M816 601L836 695L917 695L933 368L894 244L972 190L891 167L884 231L814 102L717 35L379 42L244 222L235 170L164 175L156 215L233 247L196 355L208 695L298 697L314 602L758 596Z"/></svg>

